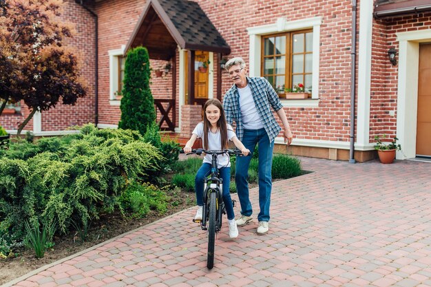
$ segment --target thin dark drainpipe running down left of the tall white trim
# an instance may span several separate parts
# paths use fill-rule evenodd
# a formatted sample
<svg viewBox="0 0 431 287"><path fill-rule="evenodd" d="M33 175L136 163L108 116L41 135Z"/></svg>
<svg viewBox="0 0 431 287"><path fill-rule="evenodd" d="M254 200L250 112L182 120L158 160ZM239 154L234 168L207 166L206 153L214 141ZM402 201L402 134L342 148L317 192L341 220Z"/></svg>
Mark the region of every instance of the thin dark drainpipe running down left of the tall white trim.
<svg viewBox="0 0 431 287"><path fill-rule="evenodd" d="M352 71L350 83L350 157L348 162L355 163L355 80L356 80L356 0L352 0Z"/></svg>

